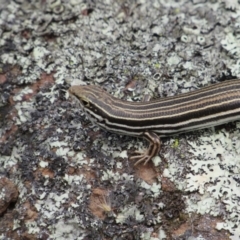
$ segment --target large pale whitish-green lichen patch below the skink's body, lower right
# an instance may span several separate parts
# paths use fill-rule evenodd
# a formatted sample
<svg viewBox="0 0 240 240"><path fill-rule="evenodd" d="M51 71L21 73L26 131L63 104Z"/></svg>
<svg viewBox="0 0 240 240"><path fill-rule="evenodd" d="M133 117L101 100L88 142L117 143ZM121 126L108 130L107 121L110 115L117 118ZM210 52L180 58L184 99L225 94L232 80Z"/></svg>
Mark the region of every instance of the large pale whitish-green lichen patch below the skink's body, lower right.
<svg viewBox="0 0 240 240"><path fill-rule="evenodd" d="M186 198L187 211L209 213L213 216L224 214L225 224L219 224L218 229L221 226L232 233L238 231L240 225L240 217L235 214L240 211L237 200L240 198L239 140L238 130L229 134L223 129L218 133L210 131L199 138L197 143L188 141L188 152L193 154L188 166L191 173L186 174L185 180L178 184L181 189L201 194L197 199ZM180 173L175 161L173 159L173 163L165 171L165 176L179 181L179 176L174 176L177 172ZM183 172L180 173L182 174ZM221 204L224 204L224 211Z"/></svg>

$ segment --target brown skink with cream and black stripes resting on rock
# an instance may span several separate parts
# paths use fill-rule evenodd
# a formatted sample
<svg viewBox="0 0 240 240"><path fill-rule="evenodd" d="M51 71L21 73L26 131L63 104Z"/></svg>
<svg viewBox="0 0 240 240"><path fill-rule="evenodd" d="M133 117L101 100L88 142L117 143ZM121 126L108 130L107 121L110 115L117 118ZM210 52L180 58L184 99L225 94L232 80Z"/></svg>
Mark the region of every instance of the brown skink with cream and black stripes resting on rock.
<svg viewBox="0 0 240 240"><path fill-rule="evenodd" d="M221 125L240 119L240 80L228 80L149 102L129 102L97 86L72 86L90 120L111 132L144 137L147 151L130 159L146 164L160 150L159 137Z"/></svg>

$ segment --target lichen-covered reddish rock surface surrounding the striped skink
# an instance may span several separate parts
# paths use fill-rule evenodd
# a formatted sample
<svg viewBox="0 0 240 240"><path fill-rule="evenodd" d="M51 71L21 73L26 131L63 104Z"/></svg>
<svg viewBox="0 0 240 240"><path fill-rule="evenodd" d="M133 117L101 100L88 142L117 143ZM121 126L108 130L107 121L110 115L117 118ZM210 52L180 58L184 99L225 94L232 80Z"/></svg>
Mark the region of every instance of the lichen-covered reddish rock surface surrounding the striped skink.
<svg viewBox="0 0 240 240"><path fill-rule="evenodd" d="M0 0L0 239L239 239L239 122L134 167L146 142L67 91L141 101L239 78L239 39L233 0Z"/></svg>

